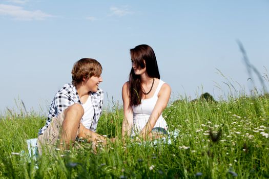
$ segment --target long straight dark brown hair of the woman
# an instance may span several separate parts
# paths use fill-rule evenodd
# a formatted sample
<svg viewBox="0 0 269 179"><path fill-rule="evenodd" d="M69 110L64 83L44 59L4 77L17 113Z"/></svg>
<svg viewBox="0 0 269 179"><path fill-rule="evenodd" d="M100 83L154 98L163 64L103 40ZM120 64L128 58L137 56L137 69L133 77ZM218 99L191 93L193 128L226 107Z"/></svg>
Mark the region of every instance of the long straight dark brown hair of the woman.
<svg viewBox="0 0 269 179"><path fill-rule="evenodd" d="M143 69L147 67L146 72L149 77L160 79L156 56L150 46L147 44L136 46L134 49L130 49L130 55L137 68ZM145 60L146 66L143 60ZM141 79L140 75L135 75L133 68L131 69L129 76L128 90L130 99L129 107L141 104L143 95Z"/></svg>

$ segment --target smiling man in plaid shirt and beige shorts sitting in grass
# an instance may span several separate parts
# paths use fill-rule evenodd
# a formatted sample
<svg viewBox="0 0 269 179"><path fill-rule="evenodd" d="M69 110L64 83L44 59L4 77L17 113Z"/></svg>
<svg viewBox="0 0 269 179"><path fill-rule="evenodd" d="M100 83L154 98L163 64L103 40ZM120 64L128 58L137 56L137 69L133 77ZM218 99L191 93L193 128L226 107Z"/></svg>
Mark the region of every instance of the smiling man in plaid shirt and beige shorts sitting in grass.
<svg viewBox="0 0 269 179"><path fill-rule="evenodd" d="M102 66L95 59L82 58L74 64L72 84L65 84L55 94L46 125L38 132L40 154L45 145L69 149L77 138L106 144L106 138L95 132L104 99L104 92L98 88L101 73Z"/></svg>

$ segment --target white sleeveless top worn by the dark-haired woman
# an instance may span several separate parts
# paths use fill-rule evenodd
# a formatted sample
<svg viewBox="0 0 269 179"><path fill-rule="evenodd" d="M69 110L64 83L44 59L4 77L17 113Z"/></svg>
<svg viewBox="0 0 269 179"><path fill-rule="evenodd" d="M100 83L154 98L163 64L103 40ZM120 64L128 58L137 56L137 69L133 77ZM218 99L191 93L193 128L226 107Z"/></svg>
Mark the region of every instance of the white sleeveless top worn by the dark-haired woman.
<svg viewBox="0 0 269 179"><path fill-rule="evenodd" d="M142 128L146 125L149 120L149 117L152 113L152 110L158 100L158 93L160 88L164 82L159 80L159 84L156 88L156 91L153 97L149 99L142 99L141 104L138 106L132 106L133 109L133 127L131 137L136 136L142 130ZM157 120L154 127L161 127L165 130L168 130L167 122L163 119L162 114Z"/></svg>

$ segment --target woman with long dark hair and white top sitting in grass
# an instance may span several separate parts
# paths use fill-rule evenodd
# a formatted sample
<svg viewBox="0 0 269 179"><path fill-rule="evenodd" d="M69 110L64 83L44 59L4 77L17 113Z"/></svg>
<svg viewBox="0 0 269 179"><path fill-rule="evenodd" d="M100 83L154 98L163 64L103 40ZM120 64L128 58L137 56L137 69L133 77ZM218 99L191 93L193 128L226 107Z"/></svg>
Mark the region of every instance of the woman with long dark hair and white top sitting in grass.
<svg viewBox="0 0 269 179"><path fill-rule="evenodd" d="M167 134L168 126L162 117L171 88L160 80L153 49L141 44L130 50L132 69L129 81L122 86L124 119L122 137L143 140Z"/></svg>

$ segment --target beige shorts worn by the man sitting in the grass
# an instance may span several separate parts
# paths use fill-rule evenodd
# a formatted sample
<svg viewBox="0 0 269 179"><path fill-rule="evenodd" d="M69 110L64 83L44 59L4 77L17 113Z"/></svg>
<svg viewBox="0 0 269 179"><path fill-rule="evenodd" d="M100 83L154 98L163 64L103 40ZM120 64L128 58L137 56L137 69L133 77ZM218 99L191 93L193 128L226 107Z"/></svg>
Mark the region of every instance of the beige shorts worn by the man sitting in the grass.
<svg viewBox="0 0 269 179"><path fill-rule="evenodd" d="M43 135L37 138L38 152L42 154L42 147L47 147L49 150L55 149L59 142L61 125L65 119L65 113L62 111L57 117L52 118L50 125L44 131ZM77 130L78 136L79 130Z"/></svg>

